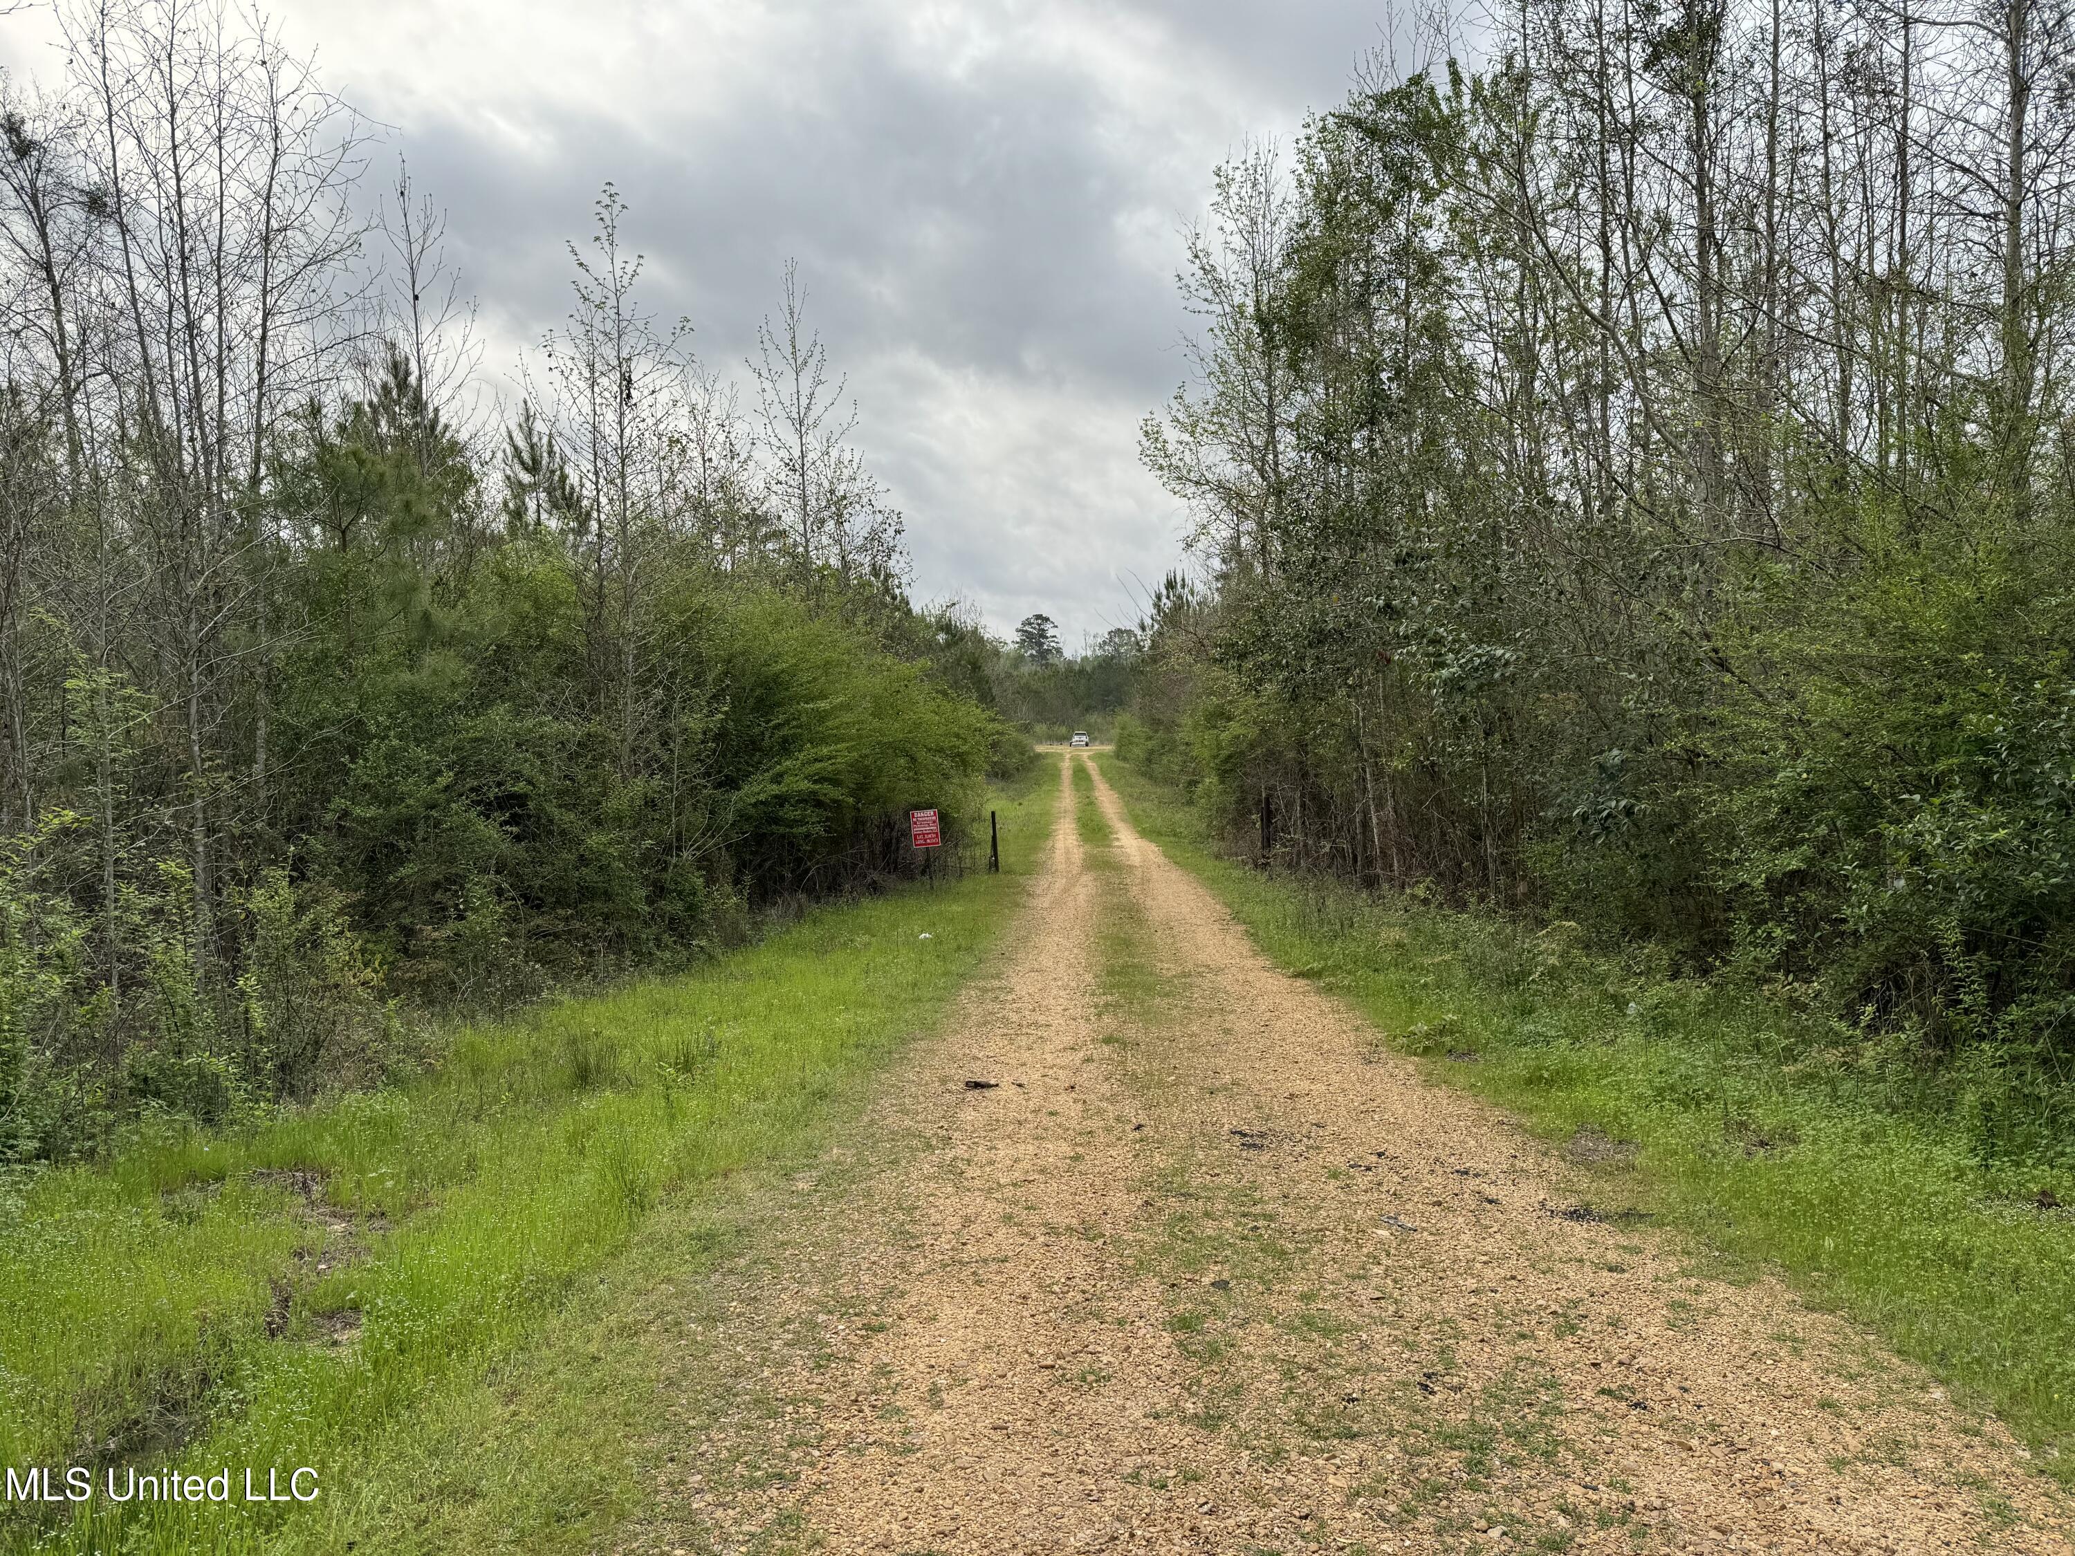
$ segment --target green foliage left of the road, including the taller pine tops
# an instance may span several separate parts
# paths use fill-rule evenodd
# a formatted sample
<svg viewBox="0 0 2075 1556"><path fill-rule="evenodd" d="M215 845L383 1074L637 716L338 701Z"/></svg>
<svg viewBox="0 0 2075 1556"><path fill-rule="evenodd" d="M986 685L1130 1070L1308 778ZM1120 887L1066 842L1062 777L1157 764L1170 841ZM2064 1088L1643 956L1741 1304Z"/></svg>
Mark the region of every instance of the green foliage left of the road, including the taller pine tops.
<svg viewBox="0 0 2075 1556"><path fill-rule="evenodd" d="M506 485L552 448L523 419ZM481 488L400 351L307 407L243 558L266 672L208 745L42 622L71 716L0 867L0 1162L380 1085L427 1056L427 1010L913 873L909 807L957 849L984 774L1029 759L884 575L730 566L639 512L602 581L579 485L502 531Z"/></svg>

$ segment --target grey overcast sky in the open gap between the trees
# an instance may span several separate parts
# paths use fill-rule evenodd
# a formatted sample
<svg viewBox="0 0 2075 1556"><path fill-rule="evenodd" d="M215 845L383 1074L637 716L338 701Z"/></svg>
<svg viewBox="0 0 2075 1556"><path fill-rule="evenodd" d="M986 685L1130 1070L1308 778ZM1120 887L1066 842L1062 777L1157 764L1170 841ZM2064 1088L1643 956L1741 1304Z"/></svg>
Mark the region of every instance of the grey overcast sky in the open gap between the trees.
<svg viewBox="0 0 2075 1556"><path fill-rule="evenodd" d="M448 210L486 371L566 309L610 178L647 301L747 380L799 259L915 591L1125 624L1177 562L1137 423L1185 373L1181 230L1247 137L1347 87L1359 0L284 0L297 52ZM0 64L50 75L48 17Z"/></svg>

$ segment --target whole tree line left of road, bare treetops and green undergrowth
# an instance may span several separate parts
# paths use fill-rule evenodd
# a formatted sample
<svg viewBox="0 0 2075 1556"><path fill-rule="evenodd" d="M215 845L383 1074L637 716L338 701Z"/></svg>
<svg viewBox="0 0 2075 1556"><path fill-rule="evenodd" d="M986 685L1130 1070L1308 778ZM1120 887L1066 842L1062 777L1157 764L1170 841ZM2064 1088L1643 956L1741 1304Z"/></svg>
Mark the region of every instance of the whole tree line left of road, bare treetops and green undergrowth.
<svg viewBox="0 0 2075 1556"><path fill-rule="evenodd" d="M272 27L60 19L0 77L0 1166L901 873L1015 759L791 268L739 386L608 185L502 417L436 205Z"/></svg>

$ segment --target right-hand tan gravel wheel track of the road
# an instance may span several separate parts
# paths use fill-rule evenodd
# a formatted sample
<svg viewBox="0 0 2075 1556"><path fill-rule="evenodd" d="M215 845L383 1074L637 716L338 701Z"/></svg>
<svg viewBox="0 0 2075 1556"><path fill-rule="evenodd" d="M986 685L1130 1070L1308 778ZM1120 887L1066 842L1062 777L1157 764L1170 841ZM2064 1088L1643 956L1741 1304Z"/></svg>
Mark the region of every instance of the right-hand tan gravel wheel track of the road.
<svg viewBox="0 0 2075 1556"><path fill-rule="evenodd" d="M1361 1344L1311 1349L1311 1398L1332 1396L1334 1373L1394 1396L1355 1454L1384 1483L1363 1535L1390 1548L1396 1502L1396 1535L1428 1539L1453 1525L1488 1544L1633 1546L1648 1527L1648 1544L1706 1550L2069 1550L2067 1500L2023 1471L2000 1425L1951 1409L1778 1280L1695 1276L1672 1239L1587 1220L1579 1201L1604 1195L1604 1176L1378 1052L1361 1019L1272 969L1131 830L1100 772L1096 788L1147 938L1189 988L1162 1058L1197 1085L1174 1089L1170 1127L1264 1139L1218 1172L1313 1230L1278 1297L1322 1288L1309 1328L1338 1319ZM1500 1442L1536 1413L1546 1432L1517 1434L1511 1467L1444 1481L1407 1519L1407 1440L1461 1438L1479 1407Z"/></svg>

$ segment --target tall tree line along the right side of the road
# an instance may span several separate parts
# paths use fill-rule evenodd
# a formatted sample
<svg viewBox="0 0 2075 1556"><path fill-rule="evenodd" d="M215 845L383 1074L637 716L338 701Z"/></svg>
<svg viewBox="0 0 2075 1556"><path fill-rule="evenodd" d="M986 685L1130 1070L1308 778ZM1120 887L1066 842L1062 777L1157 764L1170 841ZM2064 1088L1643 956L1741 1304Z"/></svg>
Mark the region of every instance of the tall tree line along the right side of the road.
<svg viewBox="0 0 2075 1556"><path fill-rule="evenodd" d="M1123 747L1276 861L2075 1054L2075 23L1517 0L1218 174Z"/></svg>

